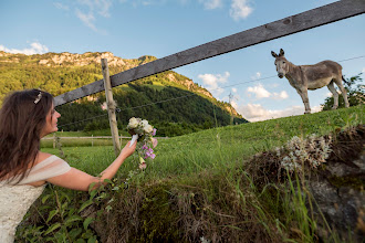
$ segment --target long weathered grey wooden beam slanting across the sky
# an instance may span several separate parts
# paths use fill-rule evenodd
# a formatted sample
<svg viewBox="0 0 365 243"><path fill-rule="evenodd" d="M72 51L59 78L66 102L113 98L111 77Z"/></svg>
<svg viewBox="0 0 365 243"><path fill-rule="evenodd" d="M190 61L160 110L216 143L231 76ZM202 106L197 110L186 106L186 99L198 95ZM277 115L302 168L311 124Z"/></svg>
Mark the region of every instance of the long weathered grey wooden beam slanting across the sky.
<svg viewBox="0 0 365 243"><path fill-rule="evenodd" d="M342 0L242 31L111 76L112 87L365 12L365 0ZM55 105L104 91L103 80L55 97Z"/></svg>

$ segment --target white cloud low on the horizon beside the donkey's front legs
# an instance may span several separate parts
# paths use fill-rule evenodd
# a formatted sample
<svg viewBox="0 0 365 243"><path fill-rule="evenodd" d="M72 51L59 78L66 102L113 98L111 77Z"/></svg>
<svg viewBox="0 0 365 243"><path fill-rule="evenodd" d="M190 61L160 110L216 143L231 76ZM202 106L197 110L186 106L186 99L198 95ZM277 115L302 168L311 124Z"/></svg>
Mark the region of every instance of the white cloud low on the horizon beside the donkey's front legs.
<svg viewBox="0 0 365 243"><path fill-rule="evenodd" d="M234 107L236 108L236 107ZM236 108L249 122L260 122L286 116L304 114L304 106L290 106L284 109L265 109L260 104L248 104ZM312 107L312 113L321 112L321 106Z"/></svg>

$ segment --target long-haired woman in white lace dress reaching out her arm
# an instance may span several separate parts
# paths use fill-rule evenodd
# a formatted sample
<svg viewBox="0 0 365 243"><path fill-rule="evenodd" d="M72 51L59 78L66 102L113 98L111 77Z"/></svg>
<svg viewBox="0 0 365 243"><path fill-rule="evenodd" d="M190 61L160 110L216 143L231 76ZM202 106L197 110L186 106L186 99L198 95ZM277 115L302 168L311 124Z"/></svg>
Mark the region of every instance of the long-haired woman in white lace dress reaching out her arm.
<svg viewBox="0 0 365 243"><path fill-rule="evenodd" d="M13 242L17 225L41 196L45 183L87 191L111 179L129 157L129 142L101 177L72 168L56 156L40 151L40 139L58 130L60 114L53 97L39 89L9 95L0 110L0 242Z"/></svg>

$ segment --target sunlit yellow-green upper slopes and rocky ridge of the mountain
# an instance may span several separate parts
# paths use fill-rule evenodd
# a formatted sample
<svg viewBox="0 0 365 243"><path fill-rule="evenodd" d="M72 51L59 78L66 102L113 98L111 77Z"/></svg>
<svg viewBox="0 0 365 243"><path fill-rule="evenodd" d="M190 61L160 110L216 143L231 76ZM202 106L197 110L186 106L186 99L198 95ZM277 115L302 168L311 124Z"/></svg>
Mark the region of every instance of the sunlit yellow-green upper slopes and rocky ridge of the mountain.
<svg viewBox="0 0 365 243"><path fill-rule="evenodd" d="M18 87L32 88L36 85L40 88L46 88L56 96L81 85L102 80L101 59L107 59L111 75L156 60L156 57L149 55L134 60L122 59L114 56L111 52L86 52L84 54L63 52L24 55L0 51L0 86L2 87L0 97ZM19 76L14 75L15 73ZM43 78L40 76L42 74L44 75ZM84 76L80 74L84 74ZM147 77L142 81L153 81L157 85L161 84L164 86L176 86L199 94L216 103L216 105L219 103L206 88L173 71L158 74L156 78ZM221 103L219 106L233 116L241 118L230 104Z"/></svg>

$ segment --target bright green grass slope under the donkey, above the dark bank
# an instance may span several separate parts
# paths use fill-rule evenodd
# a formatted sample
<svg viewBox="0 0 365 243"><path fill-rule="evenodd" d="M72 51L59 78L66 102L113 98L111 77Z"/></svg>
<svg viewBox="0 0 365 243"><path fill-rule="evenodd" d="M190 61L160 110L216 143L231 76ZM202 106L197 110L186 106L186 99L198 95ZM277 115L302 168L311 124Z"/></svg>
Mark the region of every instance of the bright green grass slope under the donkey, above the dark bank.
<svg viewBox="0 0 365 243"><path fill-rule="evenodd" d="M259 151L281 146L293 136L324 135L338 127L363 124L364 109L364 106L357 106L160 139L156 148L157 157L147 168L145 179L158 180L207 169L229 168ZM59 152L56 149L43 150L55 155ZM114 155L112 147L73 147L63 150L72 166L93 175L105 169ZM129 160L121 169L123 175L137 167Z"/></svg>

